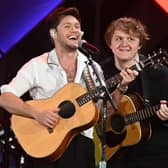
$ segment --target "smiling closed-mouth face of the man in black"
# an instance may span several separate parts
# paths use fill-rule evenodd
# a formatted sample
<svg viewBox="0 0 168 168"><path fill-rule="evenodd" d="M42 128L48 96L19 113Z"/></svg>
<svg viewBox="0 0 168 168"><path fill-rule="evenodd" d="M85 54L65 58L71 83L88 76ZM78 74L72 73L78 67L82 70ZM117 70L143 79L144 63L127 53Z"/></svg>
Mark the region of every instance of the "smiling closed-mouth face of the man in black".
<svg viewBox="0 0 168 168"><path fill-rule="evenodd" d="M135 58L141 46L139 38L121 30L115 30L110 48L118 60L128 61Z"/></svg>

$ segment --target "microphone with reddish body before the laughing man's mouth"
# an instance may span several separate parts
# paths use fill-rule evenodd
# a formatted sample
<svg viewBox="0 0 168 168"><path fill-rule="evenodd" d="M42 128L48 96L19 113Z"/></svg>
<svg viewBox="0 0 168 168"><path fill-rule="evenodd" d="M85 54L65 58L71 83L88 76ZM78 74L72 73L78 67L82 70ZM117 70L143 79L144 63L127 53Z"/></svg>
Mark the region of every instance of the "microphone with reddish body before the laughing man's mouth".
<svg viewBox="0 0 168 168"><path fill-rule="evenodd" d="M86 40L81 40L79 42L78 49L86 55L88 54L94 55L97 52L99 52L99 49L96 46L88 43Z"/></svg>

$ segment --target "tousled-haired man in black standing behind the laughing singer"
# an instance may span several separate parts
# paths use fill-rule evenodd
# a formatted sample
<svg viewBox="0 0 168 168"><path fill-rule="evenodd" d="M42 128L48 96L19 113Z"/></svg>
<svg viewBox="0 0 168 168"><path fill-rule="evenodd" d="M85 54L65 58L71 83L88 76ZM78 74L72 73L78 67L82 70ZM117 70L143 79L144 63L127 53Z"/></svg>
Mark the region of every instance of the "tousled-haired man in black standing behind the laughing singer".
<svg viewBox="0 0 168 168"><path fill-rule="evenodd" d="M145 57L140 54L140 50L147 40L149 40L149 35L146 32L146 27L138 19L123 17L112 21L105 33L106 44L114 55L113 61L109 65L103 65L106 78L143 60ZM130 83L125 94L139 93L146 101L143 103L148 105L156 105L160 100L163 101L161 101L156 116L150 120L152 125L151 139L148 142L128 147L126 152L119 157L117 154L117 157L113 156L108 161L108 168L154 168L168 163L167 74L168 68L166 66L157 69L146 68L138 78Z"/></svg>

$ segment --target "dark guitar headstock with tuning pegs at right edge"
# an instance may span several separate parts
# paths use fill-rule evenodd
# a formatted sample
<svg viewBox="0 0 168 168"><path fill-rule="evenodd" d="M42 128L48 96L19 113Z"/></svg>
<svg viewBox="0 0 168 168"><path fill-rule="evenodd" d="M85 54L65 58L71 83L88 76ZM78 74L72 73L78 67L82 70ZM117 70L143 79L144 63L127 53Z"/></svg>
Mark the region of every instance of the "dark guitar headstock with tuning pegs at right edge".
<svg viewBox="0 0 168 168"><path fill-rule="evenodd" d="M158 65L168 64L168 52L164 49L159 49L157 52L153 51L152 54L148 54L147 58L141 61L142 67L154 67Z"/></svg>

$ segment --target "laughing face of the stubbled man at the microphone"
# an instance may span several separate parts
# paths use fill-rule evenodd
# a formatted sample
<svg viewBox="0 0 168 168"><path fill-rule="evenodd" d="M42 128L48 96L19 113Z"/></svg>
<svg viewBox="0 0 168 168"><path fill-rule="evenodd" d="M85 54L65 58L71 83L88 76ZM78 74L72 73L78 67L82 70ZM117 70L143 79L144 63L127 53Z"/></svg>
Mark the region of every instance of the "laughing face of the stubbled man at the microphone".
<svg viewBox="0 0 168 168"><path fill-rule="evenodd" d="M55 32L56 44L69 49L76 49L82 35L80 22L71 15L65 16Z"/></svg>

